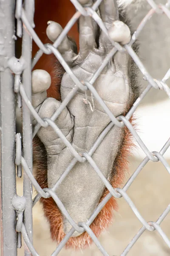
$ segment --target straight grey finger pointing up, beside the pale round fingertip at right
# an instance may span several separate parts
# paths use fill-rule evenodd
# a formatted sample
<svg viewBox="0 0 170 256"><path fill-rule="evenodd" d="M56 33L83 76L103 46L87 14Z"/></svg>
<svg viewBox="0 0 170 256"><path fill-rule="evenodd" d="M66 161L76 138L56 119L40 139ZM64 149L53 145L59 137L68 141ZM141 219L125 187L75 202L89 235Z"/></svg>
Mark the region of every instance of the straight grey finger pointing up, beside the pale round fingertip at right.
<svg viewBox="0 0 170 256"><path fill-rule="evenodd" d="M103 0L99 6L99 12L100 17L107 29L112 26L115 20L119 20L119 12L116 0ZM99 46L100 48L108 47L108 50L110 50L112 47L111 41L103 31L101 31L100 34Z"/></svg>

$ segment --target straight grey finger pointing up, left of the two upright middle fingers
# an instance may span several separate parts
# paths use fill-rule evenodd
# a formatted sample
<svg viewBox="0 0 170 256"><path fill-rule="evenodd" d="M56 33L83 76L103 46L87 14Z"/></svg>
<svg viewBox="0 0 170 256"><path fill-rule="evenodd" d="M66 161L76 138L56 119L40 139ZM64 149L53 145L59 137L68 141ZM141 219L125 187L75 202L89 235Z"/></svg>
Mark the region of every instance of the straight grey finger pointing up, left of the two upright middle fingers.
<svg viewBox="0 0 170 256"><path fill-rule="evenodd" d="M88 1L88 6L93 4L92 0ZM79 17L79 49L80 55L85 56L90 49L96 47L96 26L90 16Z"/></svg>

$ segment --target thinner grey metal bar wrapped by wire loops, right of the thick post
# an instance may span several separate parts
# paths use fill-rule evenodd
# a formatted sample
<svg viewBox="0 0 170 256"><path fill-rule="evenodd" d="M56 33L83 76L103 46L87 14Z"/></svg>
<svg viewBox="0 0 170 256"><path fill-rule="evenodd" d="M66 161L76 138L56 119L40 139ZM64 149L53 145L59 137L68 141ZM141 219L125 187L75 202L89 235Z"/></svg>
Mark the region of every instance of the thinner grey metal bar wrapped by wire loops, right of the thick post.
<svg viewBox="0 0 170 256"><path fill-rule="evenodd" d="M34 17L34 0L26 0L24 3L26 16L31 23ZM31 56L32 55L32 38L27 29L23 26L23 44L22 44L22 57L26 61L26 69L23 71L23 86L26 90L27 96L31 101ZM23 157L32 172L32 118L26 103L23 100ZM32 185L24 172L23 195L28 204L24 211L24 224L31 242L32 238ZM25 245L25 256L30 256L31 253Z"/></svg>

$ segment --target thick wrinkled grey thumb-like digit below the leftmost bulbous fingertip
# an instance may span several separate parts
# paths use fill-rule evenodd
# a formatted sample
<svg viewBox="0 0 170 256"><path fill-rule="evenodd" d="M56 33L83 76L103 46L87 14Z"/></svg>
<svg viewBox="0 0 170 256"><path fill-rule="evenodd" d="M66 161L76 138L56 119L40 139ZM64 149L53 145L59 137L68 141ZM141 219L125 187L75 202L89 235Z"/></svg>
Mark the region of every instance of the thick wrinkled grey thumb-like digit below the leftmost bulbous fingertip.
<svg viewBox="0 0 170 256"><path fill-rule="evenodd" d="M51 118L51 116L54 114L55 111L57 111L60 105L61 102L57 101L56 99L47 98L42 103L38 114L41 118ZM64 110L60 113L60 115L55 120L55 124L62 131L65 137L67 137L67 139L71 141L72 134L70 131L74 126L74 119L73 117L71 117L67 108L64 108ZM49 154L53 154L54 152L55 154L58 154L61 150L61 147L65 147L62 140L59 139L58 135L50 125L47 128L40 128L37 135L42 143L44 143L45 147L48 147L48 150L51 151L48 152Z"/></svg>

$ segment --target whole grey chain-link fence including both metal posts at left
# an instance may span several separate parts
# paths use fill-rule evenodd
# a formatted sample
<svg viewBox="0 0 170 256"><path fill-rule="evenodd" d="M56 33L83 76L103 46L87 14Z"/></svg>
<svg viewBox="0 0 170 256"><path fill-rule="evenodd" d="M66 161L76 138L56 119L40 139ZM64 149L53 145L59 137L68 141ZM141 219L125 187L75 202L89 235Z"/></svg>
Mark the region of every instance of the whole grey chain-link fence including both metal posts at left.
<svg viewBox="0 0 170 256"><path fill-rule="evenodd" d="M170 70L167 71L164 78L161 81L153 79L150 74L145 69L139 57L136 55L132 48L132 44L136 41L136 38L140 34L141 30L144 28L147 21L153 15L167 15L167 18L170 19L170 1L166 5L157 6L153 0L147 0L150 4L151 9L148 14L143 18L141 23L138 26L138 29L133 34L130 43L122 46L118 43L115 43L111 40L113 48L105 57L102 65L94 73L90 81L79 81L79 79L74 75L68 64L65 62L62 55L57 50L57 47L65 38L68 31L77 22L81 15L91 17L99 25L100 29L105 33L107 37L108 31L105 28L104 23L99 16L97 15L96 10L102 2L102 0L96 0L91 7L83 7L77 0L71 0L74 6L77 9L75 15L71 18L68 24L63 29L62 33L59 35L54 44L44 45L37 34L34 32L34 0L28 0L22 4L22 0L17 0L16 3L14 0L0 0L0 108L1 108L1 256L16 256L17 248L22 246L21 236L25 241L25 255L38 256L38 253L33 246L33 237L32 237L32 207L39 201L41 197L49 198L52 197L56 202L57 206L61 210L62 214L71 224L72 229L65 235L64 239L57 246L52 256L58 255L60 250L65 246L68 239L72 236L74 231L82 233L86 231L89 236L92 238L96 246L99 248L101 253L105 256L108 255L105 248L102 247L99 240L94 235L93 231L89 227L94 221L98 213L113 196L114 198L123 197L127 204L131 207L136 217L141 221L142 227L138 233L134 234L133 239L127 245L125 250L122 252L121 256L128 254L130 249L139 239L139 237L144 233L145 230L150 232L156 231L160 234L162 239L167 243L167 246L170 247L170 239L166 236L163 230L160 227L161 222L164 220L166 215L170 212L170 204L162 212L161 216L157 219L156 222L150 221L147 222L136 206L133 204L133 201L127 195L127 189L133 183L137 175L142 171L143 167L148 163L149 160L153 162L161 161L165 169L170 173L170 166L164 158L164 153L170 146L170 139L162 145L162 148L159 152L153 151L150 152L146 145L142 142L139 135L136 133L135 129L130 123L130 118L133 113L136 111L136 108L142 102L142 99L147 95L150 90L164 90L167 95L170 97L170 89L166 84L167 79L170 77ZM48 3L50 4L50 3ZM22 36L22 56L20 59L14 58L14 39L15 39L15 17L17 19L17 36ZM152 31L150 31L152 33ZM31 61L31 45L32 38L36 42L40 50L37 52L34 59ZM113 113L105 105L104 101L100 98L98 92L93 87L94 82L108 64L111 58L115 55L117 51L123 52L127 51L128 54L133 58L139 70L143 73L144 79L147 80L148 85L138 97L136 102L130 108L126 116L119 116L117 119L113 116ZM57 109L57 111L51 116L50 119L42 119L38 113L35 111L34 107L31 105L31 69L35 66L37 61L40 59L42 54L51 54L53 53L58 61L62 64L65 71L69 74L71 79L76 84L74 89L68 93L66 98L62 101L62 104ZM10 67L10 68L9 68ZM13 76L14 74L14 76ZM20 78L22 77L22 83ZM90 90L97 102L102 106L105 113L108 114L111 119L111 123L104 129L100 134L92 148L88 153L82 152L82 155L78 154L74 147L69 143L67 138L62 134L55 120L63 109L67 106L68 102L77 93L77 90L81 89L82 91ZM21 142L20 134L15 135L15 95L17 95L17 104L23 111L23 142ZM35 125L32 133L32 123L31 116L37 120L37 125ZM32 174L32 139L37 134L41 127L47 128L50 125L56 131L57 135L65 146L70 149L74 155L74 160L70 163L65 172L61 175L57 183L52 189L46 188L42 189L37 181L35 180ZM139 146L142 148L146 157L142 163L138 166L136 171L127 181L125 186L120 188L113 188L105 176L102 174L92 156L96 148L100 145L103 138L108 134L108 132L116 125L120 128L126 126L130 133L133 135L134 139L137 141ZM23 144L23 149L22 149ZM65 206L60 201L59 197L55 193L59 184L65 179L66 175L71 171L73 166L77 163L84 163L88 161L91 166L94 168L95 172L99 175L102 182L105 184L109 190L108 195L100 202L98 207L95 209L91 217L86 223L79 222L78 224L74 222L71 216L68 214ZM15 164L17 165L17 176L22 176L22 168L24 170L23 177L23 197L16 195L16 172ZM37 190L37 196L32 200L32 186ZM17 231L17 232L16 232Z"/></svg>

